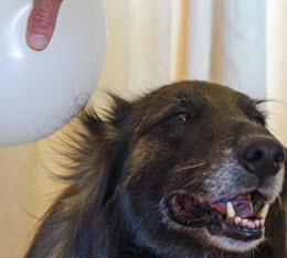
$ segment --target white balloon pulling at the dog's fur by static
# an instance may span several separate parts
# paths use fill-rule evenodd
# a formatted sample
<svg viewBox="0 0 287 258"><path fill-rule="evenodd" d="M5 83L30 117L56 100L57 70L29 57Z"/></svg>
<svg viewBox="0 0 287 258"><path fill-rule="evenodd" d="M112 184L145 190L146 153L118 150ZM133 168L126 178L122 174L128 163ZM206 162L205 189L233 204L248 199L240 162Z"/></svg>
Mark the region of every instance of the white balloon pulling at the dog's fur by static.
<svg viewBox="0 0 287 258"><path fill-rule="evenodd" d="M0 146L40 140L84 107L99 79L107 29L102 0L64 0L42 52L25 43L31 0L0 0Z"/></svg>

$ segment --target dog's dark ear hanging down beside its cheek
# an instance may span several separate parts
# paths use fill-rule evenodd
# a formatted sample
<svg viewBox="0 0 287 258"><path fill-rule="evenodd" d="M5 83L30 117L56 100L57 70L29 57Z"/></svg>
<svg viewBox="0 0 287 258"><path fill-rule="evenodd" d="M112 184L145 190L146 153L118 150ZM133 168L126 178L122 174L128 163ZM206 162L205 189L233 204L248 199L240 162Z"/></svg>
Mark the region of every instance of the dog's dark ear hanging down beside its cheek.
<svg viewBox="0 0 287 258"><path fill-rule="evenodd" d="M106 116L105 157L103 157L102 175L98 176L99 186L97 202L100 206L113 196L123 175L123 169L131 146L131 130L129 127L132 103L109 94L111 108ZM102 208L102 207L99 207Z"/></svg>

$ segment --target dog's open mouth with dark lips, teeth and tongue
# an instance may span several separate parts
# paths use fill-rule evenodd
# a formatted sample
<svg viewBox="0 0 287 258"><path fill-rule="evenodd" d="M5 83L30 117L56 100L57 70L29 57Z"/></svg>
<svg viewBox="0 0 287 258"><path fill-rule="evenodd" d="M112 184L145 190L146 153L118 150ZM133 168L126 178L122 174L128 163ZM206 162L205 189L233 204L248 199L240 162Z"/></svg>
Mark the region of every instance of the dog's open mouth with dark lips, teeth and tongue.
<svg viewBox="0 0 287 258"><path fill-rule="evenodd" d="M169 217L183 226L206 227L210 234L242 241L264 236L269 204L257 191L230 194L212 200L182 193L166 198Z"/></svg>

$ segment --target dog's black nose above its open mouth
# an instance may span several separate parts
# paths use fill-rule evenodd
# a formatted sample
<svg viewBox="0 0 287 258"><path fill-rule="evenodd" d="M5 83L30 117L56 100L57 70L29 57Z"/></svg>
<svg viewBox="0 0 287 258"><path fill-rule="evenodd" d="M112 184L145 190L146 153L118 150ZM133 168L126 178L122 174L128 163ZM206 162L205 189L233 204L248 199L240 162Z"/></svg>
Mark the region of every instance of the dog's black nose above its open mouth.
<svg viewBox="0 0 287 258"><path fill-rule="evenodd" d="M278 173L285 159L285 149L272 137L249 137L238 148L240 163L258 178Z"/></svg>

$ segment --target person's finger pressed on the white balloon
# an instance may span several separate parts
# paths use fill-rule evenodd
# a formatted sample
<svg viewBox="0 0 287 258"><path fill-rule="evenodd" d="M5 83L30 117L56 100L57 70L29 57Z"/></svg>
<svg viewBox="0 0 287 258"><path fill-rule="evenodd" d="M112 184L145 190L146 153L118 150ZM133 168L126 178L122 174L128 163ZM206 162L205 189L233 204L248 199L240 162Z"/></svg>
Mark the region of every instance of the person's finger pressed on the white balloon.
<svg viewBox="0 0 287 258"><path fill-rule="evenodd" d="M56 18L63 0L34 0L28 19L26 43L33 50L44 50L55 30Z"/></svg>

